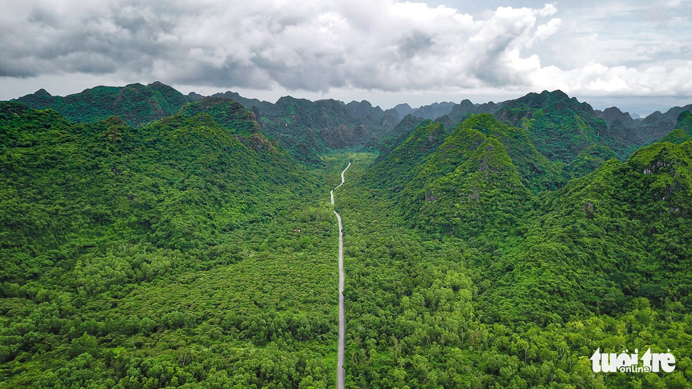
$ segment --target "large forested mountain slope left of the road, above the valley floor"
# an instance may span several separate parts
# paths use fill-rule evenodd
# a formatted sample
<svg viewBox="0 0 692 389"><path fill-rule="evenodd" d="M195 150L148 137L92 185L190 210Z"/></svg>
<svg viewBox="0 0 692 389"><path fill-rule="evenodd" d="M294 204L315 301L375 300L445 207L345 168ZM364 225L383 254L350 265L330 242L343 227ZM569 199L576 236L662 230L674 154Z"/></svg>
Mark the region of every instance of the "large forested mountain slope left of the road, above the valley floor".
<svg viewBox="0 0 692 389"><path fill-rule="evenodd" d="M280 145L237 136L205 112L137 128L117 117L73 124L1 102L0 123L1 280L45 271L37 265L45 261L68 269L75 257L51 250L70 246L78 256L121 237L203 249L312 185Z"/></svg>

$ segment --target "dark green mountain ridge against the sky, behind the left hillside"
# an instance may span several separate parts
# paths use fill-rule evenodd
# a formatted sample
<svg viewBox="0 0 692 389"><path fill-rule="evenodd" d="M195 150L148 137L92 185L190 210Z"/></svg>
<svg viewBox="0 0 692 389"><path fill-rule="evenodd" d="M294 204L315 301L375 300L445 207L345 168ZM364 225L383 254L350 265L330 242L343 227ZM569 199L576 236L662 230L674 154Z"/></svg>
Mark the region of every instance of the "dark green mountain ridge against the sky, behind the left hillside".
<svg viewBox="0 0 692 389"><path fill-rule="evenodd" d="M157 81L149 85L97 86L65 97L52 96L41 89L13 101L23 102L33 109L54 109L77 123L119 116L130 126L141 126L175 114L191 100Z"/></svg>

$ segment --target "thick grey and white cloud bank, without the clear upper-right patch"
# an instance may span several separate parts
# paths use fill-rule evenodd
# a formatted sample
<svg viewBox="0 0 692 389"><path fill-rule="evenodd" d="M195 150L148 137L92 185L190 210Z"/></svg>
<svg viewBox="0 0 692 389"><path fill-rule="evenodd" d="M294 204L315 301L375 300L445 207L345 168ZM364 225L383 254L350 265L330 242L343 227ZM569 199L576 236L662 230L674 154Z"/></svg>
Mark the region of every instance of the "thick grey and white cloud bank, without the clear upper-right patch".
<svg viewBox="0 0 692 389"><path fill-rule="evenodd" d="M5 78L102 74L310 92L692 93L689 61L661 63L645 50L631 56L637 66L585 61L568 68L551 61L535 47L561 42L554 4L500 7L477 18L393 0L3 2ZM574 47L586 50L599 38L580 39Z"/></svg>

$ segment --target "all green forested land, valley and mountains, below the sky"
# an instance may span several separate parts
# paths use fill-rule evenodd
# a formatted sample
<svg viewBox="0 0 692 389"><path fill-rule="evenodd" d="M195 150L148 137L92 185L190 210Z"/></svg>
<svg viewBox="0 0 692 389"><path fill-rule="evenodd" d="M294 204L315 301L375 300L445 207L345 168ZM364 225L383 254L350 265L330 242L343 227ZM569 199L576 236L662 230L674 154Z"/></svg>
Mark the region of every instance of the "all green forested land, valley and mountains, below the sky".
<svg viewBox="0 0 692 389"><path fill-rule="evenodd" d="M0 388L334 387L333 210L347 388L692 387L688 109L40 91L0 205Z"/></svg>

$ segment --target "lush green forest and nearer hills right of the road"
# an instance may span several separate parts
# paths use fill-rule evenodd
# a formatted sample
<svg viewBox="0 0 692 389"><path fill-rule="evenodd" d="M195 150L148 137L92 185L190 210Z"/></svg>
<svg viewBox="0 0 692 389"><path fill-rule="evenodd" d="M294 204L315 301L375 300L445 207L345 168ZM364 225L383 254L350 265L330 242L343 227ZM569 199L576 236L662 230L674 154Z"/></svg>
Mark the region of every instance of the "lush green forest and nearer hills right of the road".
<svg viewBox="0 0 692 389"><path fill-rule="evenodd" d="M590 145L544 164L581 178L540 191L519 169L530 148L508 152L520 128L476 115L429 136L442 126L424 122L345 186L341 215L362 222L345 260L353 387L688 388L692 142L626 163ZM595 374L598 347L670 348L679 367Z"/></svg>

